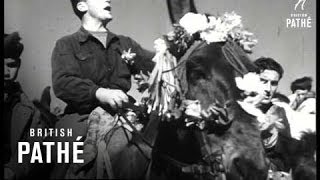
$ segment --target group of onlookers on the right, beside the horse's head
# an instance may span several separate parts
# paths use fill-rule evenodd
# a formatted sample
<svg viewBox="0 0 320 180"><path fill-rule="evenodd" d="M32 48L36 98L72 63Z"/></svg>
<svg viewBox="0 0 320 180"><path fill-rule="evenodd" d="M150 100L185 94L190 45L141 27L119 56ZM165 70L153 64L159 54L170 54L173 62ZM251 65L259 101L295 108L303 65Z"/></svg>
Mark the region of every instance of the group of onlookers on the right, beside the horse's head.
<svg viewBox="0 0 320 180"><path fill-rule="evenodd" d="M260 87L255 95L246 96L242 107L260 119L260 130L271 169L289 172L286 159L288 138L300 140L305 132L316 132L315 93L312 79L302 77L291 83L288 97L277 92L284 74L282 66L272 58L261 57L254 61L258 67ZM312 101L310 103L309 101ZM309 102L309 103L308 103ZM311 146L311 145L310 145Z"/></svg>

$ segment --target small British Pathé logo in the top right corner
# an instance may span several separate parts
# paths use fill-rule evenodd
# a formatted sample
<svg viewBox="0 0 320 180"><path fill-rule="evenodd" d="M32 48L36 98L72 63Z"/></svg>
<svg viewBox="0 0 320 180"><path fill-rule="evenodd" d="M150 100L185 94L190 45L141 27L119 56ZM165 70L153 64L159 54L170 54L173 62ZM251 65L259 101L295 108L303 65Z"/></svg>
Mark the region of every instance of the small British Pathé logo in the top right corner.
<svg viewBox="0 0 320 180"><path fill-rule="evenodd" d="M305 12L305 5L307 0L297 0L294 4L294 12L286 19L287 28L311 28L312 19L309 14Z"/></svg>

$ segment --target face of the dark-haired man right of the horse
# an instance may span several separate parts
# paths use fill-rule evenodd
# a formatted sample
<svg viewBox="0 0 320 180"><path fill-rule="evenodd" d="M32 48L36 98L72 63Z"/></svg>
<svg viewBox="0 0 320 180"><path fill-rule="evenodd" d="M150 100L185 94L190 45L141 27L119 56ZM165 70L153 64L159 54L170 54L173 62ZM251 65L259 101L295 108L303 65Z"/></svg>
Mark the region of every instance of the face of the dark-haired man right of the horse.
<svg viewBox="0 0 320 180"><path fill-rule="evenodd" d="M280 80L280 75L277 71L266 69L260 73L261 90L264 98L262 104L268 104L271 102L271 98L276 92Z"/></svg>

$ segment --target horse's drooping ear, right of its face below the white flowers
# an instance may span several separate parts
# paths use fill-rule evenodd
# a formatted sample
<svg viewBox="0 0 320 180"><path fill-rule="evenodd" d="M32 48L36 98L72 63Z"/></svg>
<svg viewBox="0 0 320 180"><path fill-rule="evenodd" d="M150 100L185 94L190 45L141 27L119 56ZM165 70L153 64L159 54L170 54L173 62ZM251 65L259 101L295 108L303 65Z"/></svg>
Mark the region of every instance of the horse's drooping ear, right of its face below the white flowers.
<svg viewBox="0 0 320 180"><path fill-rule="evenodd" d="M242 76L248 72L258 72L257 66L254 65L245 51L234 41L227 41L222 47L222 52L236 70L237 76Z"/></svg>

